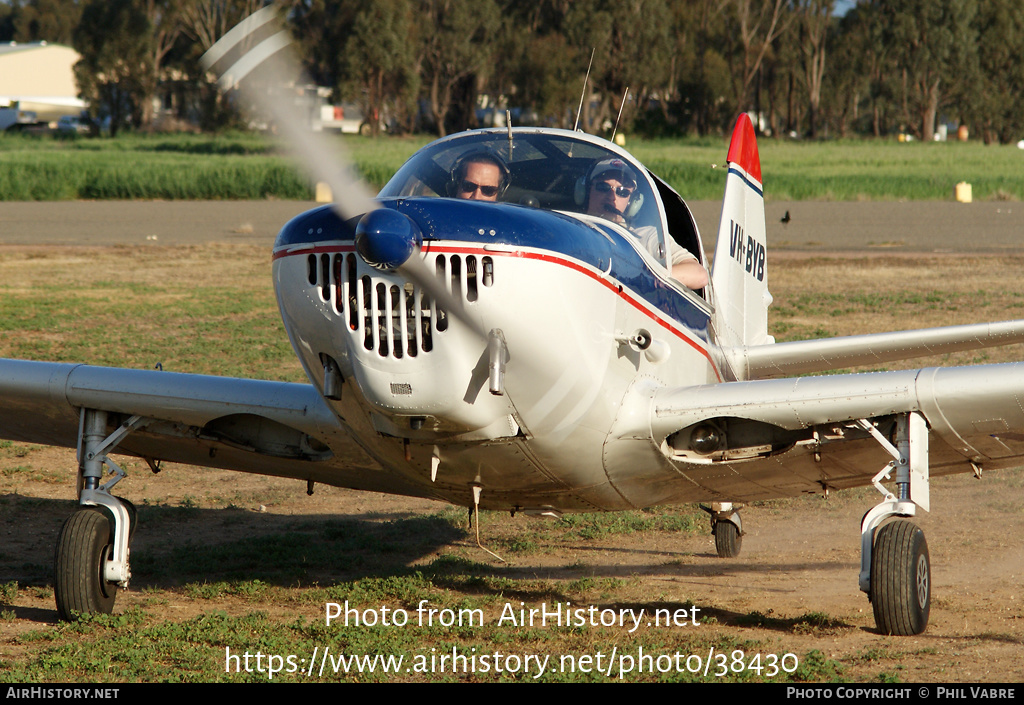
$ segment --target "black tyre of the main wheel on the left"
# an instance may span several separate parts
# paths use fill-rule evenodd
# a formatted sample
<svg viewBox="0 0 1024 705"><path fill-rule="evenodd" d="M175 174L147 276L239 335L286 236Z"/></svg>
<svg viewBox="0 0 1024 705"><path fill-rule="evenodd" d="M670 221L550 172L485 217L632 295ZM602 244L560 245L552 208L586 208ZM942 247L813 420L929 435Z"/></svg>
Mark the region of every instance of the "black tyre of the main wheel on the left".
<svg viewBox="0 0 1024 705"><path fill-rule="evenodd" d="M79 509L68 517L53 559L53 596L60 619L114 611L118 588L103 579L103 564L113 550L114 532L106 514Z"/></svg>

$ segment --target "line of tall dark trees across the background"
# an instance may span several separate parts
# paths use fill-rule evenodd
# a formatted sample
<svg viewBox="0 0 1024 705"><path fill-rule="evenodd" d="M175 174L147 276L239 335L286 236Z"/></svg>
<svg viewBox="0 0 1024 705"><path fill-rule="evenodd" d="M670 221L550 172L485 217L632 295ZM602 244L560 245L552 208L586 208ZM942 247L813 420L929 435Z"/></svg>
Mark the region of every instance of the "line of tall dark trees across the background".
<svg viewBox="0 0 1024 705"><path fill-rule="evenodd" d="M263 0L6 0L0 41L69 44L82 97L115 128L155 106L237 123L199 57ZM291 0L303 64L335 101L399 131L489 113L588 132L714 134L740 111L808 137L968 125L1024 137L1019 0ZM589 80L584 94L584 79ZM372 121L377 129L380 122Z"/></svg>

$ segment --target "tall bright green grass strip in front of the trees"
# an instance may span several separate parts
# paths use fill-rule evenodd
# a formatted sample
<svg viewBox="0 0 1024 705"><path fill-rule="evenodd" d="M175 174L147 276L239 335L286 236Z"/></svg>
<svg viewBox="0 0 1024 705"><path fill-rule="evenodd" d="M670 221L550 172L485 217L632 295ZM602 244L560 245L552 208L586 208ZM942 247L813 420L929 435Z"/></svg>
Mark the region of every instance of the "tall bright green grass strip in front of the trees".
<svg viewBox="0 0 1024 705"><path fill-rule="evenodd" d="M380 188L429 137L337 137ZM684 198L722 197L727 140L629 140L627 149ZM769 200L1024 200L1024 152L980 142L762 139ZM310 199L307 180L261 135L140 135L54 139L0 135L0 201L69 199Z"/></svg>

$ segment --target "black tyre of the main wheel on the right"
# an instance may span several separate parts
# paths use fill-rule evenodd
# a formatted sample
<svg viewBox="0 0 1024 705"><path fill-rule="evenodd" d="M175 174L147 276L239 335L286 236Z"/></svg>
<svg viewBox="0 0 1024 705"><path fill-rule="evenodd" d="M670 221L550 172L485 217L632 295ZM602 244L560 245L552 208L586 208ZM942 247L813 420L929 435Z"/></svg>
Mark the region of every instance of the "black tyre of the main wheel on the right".
<svg viewBox="0 0 1024 705"><path fill-rule="evenodd" d="M876 533L870 598L883 634L912 636L928 627L932 559L925 532L912 522L896 520Z"/></svg>

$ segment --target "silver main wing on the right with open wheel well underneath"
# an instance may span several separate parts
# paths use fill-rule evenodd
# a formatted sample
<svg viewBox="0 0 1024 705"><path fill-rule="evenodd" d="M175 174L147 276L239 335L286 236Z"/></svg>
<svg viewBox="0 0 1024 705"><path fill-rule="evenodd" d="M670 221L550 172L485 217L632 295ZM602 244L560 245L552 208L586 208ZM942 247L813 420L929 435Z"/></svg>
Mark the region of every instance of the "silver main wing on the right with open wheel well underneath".
<svg viewBox="0 0 1024 705"><path fill-rule="evenodd" d="M662 388L651 404L677 471L735 501L867 485L890 458L856 421L888 434L909 411L933 475L1024 462L1024 363Z"/></svg>

